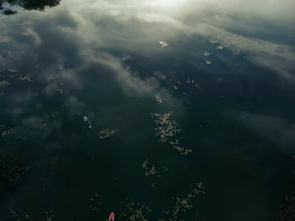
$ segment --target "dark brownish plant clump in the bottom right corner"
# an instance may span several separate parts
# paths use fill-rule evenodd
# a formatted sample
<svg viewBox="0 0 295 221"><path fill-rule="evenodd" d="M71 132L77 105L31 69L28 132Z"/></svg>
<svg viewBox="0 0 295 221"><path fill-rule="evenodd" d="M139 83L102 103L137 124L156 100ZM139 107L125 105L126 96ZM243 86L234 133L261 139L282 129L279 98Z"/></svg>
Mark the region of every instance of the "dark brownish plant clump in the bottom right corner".
<svg viewBox="0 0 295 221"><path fill-rule="evenodd" d="M286 193L285 203L279 208L281 221L293 221L295 218L295 193Z"/></svg>

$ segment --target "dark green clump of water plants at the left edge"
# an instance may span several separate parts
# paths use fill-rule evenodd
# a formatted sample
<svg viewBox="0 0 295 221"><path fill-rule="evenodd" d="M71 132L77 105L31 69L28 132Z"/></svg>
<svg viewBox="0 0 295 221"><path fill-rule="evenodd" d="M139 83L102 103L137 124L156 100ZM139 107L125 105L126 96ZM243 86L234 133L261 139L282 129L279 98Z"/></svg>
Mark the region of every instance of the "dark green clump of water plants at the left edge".
<svg viewBox="0 0 295 221"><path fill-rule="evenodd" d="M24 169L22 162L14 154L0 154L0 196L8 194L9 189L22 180L27 169Z"/></svg>

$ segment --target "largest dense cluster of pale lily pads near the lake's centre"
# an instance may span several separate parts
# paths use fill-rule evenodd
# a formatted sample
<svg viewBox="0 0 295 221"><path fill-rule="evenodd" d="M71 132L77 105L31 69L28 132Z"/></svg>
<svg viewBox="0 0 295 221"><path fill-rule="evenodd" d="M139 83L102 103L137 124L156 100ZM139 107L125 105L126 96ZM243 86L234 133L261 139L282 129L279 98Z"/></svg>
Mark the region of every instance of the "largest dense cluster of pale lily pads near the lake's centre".
<svg viewBox="0 0 295 221"><path fill-rule="evenodd" d="M165 114L156 114L149 113L152 115L152 118L155 117L154 123L156 125L160 125L155 128L156 136L159 136L159 140L161 142L166 142L168 137L174 136L176 133L179 133L181 130L177 129L177 123L175 121L169 121L169 117L172 115L172 111L169 111Z"/></svg>

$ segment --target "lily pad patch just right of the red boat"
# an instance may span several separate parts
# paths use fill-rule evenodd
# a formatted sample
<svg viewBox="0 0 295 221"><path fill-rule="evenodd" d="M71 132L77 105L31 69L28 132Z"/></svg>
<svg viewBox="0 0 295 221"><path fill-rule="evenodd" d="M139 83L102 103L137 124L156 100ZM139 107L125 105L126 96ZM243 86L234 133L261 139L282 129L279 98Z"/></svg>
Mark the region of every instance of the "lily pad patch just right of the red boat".
<svg viewBox="0 0 295 221"><path fill-rule="evenodd" d="M128 199L126 199L128 201ZM123 204L123 202L121 202ZM131 202L127 202L122 210L119 211L118 219L121 221L148 221L146 216L150 213L151 210L142 206L139 203L134 203L133 199Z"/></svg>

